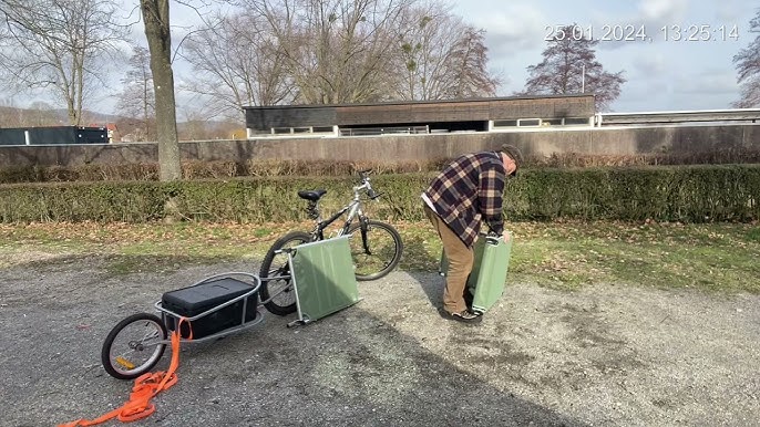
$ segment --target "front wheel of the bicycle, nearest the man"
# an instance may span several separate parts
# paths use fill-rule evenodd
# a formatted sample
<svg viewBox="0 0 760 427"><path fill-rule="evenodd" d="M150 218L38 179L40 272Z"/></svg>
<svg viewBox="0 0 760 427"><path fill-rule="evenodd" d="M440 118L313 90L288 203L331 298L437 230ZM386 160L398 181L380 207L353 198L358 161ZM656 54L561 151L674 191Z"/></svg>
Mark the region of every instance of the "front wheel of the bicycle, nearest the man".
<svg viewBox="0 0 760 427"><path fill-rule="evenodd" d="M376 280L386 277L401 261L401 236L386 222L367 220L366 227L353 223L348 232L357 280Z"/></svg>

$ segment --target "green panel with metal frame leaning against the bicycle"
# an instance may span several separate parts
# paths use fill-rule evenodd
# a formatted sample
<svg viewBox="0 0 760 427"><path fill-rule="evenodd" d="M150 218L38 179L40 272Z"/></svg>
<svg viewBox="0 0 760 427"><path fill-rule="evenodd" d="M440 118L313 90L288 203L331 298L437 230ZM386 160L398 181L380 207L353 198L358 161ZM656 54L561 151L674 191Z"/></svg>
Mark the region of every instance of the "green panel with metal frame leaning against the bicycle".
<svg viewBox="0 0 760 427"><path fill-rule="evenodd" d="M290 263L301 320L315 321L359 301L348 236L300 244Z"/></svg>

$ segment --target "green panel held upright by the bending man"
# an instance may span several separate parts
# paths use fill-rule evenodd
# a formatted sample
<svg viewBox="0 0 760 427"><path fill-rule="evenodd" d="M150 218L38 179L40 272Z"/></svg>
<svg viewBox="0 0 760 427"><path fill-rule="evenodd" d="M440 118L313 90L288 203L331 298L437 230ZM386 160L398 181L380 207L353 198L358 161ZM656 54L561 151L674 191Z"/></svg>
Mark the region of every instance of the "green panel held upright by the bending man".
<svg viewBox="0 0 760 427"><path fill-rule="evenodd" d="M472 296L472 311L484 313L499 301L504 292L504 282L510 267L512 237L505 242L503 238L480 235L473 247L475 260L468 278L465 292ZM439 273L445 275L449 261L441 254Z"/></svg>

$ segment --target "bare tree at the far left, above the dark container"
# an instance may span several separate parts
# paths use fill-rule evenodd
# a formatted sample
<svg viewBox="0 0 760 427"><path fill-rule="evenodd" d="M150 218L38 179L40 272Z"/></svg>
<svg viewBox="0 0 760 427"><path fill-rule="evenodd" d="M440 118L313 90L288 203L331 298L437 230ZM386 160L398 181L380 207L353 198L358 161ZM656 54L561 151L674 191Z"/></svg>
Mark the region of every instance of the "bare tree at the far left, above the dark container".
<svg viewBox="0 0 760 427"><path fill-rule="evenodd" d="M2 81L51 88L80 125L88 95L103 83L125 28L113 0L0 0Z"/></svg>

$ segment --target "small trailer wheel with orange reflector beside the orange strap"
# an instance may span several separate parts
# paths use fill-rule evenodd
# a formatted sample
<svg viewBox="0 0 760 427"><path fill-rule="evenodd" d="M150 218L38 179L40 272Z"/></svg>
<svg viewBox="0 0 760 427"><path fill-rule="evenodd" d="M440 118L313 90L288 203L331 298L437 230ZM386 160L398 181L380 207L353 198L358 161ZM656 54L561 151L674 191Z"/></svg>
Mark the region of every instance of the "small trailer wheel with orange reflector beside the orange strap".
<svg viewBox="0 0 760 427"><path fill-rule="evenodd" d="M109 332L101 350L105 372L119 379L133 379L158 363L166 348L166 325L154 314L133 314Z"/></svg>

